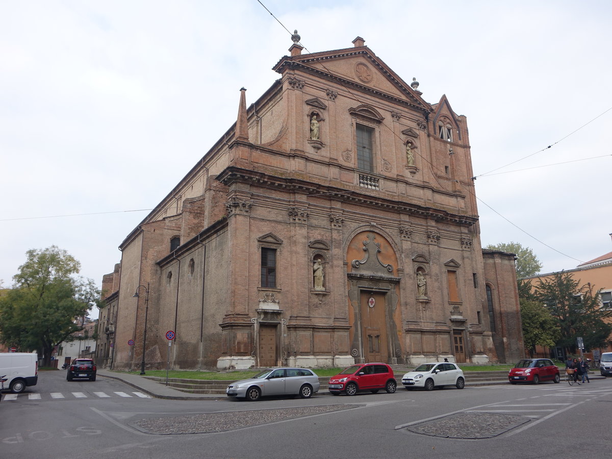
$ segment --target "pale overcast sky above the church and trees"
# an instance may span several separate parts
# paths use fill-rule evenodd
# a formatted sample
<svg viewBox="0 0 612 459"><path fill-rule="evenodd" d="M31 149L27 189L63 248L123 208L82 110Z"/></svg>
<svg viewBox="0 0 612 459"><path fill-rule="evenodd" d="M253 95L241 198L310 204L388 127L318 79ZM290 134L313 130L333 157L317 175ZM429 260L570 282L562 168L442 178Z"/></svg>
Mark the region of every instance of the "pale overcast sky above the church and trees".
<svg viewBox="0 0 612 459"><path fill-rule="evenodd" d="M543 272L612 251L612 2L262 2L304 53L359 35L467 116L483 246L531 247ZM0 0L4 286L50 245L100 285L291 43L257 0Z"/></svg>

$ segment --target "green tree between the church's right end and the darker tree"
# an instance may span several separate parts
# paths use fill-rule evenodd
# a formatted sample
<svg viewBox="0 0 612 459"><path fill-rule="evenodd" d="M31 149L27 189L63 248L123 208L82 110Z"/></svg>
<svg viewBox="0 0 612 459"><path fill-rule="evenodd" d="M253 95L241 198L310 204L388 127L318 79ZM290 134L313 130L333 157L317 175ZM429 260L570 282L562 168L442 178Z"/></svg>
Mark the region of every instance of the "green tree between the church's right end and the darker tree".
<svg viewBox="0 0 612 459"><path fill-rule="evenodd" d="M521 299L521 321L523 340L530 357L534 355L535 346L551 348L561 336L557 319L541 303Z"/></svg>

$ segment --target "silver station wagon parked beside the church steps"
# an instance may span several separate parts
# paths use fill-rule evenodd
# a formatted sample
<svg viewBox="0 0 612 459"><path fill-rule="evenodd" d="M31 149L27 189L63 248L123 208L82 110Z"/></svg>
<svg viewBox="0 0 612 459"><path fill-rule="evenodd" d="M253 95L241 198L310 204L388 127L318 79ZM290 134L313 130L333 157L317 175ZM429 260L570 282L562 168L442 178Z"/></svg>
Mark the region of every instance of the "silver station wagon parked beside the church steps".
<svg viewBox="0 0 612 459"><path fill-rule="evenodd" d="M308 368L268 368L253 378L231 383L225 393L228 397L256 401L261 397L299 395L310 398L319 391L319 377Z"/></svg>

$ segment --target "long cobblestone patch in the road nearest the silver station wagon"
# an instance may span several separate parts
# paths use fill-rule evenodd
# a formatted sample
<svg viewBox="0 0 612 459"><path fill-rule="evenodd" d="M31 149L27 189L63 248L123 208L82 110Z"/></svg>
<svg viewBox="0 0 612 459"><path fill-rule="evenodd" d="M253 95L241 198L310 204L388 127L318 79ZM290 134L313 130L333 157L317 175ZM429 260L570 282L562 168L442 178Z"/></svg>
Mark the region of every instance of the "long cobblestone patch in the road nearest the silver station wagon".
<svg viewBox="0 0 612 459"><path fill-rule="evenodd" d="M173 435L179 433L212 433L224 430L269 424L297 417L313 416L364 405L324 405L301 408L257 409L253 411L230 411L196 414L191 416L166 416L142 419L131 423L132 427L145 433Z"/></svg>

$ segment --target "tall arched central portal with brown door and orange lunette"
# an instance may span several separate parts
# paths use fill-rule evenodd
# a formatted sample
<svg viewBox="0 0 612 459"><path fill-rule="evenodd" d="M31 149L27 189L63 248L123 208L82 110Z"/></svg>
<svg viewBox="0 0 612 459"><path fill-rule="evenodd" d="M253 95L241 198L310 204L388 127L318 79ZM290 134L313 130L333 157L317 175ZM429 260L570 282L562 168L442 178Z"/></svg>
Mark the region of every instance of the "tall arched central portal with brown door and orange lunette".
<svg viewBox="0 0 612 459"><path fill-rule="evenodd" d="M349 243L346 256L351 355L356 362L396 364L402 353L396 326L401 318L395 250L380 234L362 231Z"/></svg>

